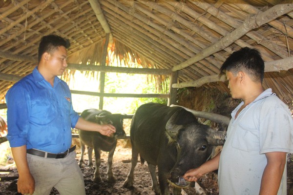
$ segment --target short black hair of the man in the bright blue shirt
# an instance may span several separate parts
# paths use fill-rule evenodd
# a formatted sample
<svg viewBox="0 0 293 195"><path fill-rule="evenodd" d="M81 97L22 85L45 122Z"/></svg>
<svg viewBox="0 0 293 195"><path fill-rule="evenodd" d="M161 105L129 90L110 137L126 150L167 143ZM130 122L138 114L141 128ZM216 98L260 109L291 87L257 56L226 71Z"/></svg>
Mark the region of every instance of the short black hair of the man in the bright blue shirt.
<svg viewBox="0 0 293 195"><path fill-rule="evenodd" d="M67 49L70 46L70 42L68 39L64 39L57 35L47 35L42 37L39 45L39 62L41 61L42 55L45 52L52 53L59 46L64 46Z"/></svg>

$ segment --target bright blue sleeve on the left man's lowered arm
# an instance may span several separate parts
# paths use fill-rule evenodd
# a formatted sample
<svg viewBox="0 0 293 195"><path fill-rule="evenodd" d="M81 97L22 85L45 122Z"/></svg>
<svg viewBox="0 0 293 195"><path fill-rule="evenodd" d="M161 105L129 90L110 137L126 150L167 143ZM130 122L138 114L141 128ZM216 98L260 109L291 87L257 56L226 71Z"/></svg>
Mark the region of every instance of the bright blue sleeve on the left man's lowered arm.
<svg viewBox="0 0 293 195"><path fill-rule="evenodd" d="M7 139L10 147L26 145L29 130L29 95L21 85L14 85L6 94Z"/></svg>

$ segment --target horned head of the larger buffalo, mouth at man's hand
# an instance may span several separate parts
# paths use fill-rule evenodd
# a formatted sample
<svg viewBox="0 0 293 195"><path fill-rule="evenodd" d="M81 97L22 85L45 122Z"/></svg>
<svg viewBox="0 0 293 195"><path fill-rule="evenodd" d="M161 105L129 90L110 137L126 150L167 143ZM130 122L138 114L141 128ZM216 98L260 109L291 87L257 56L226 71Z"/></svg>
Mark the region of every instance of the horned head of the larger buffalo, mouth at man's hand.
<svg viewBox="0 0 293 195"><path fill-rule="evenodd" d="M187 187L189 182L179 184L179 177L189 169L202 165L211 155L212 145L223 145L226 132L215 131L197 121L176 124L180 113L181 110L174 113L166 124L169 144L175 144L177 149L176 163L168 179L176 187Z"/></svg>

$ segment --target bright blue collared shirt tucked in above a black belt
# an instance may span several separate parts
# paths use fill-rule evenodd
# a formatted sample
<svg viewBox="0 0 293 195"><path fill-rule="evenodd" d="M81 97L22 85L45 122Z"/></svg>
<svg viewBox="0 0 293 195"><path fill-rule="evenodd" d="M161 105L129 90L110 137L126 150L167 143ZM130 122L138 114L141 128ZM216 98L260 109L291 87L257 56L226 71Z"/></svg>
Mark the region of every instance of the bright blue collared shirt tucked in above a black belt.
<svg viewBox="0 0 293 195"><path fill-rule="evenodd" d="M68 85L58 77L54 87L37 67L6 94L7 139L11 147L26 145L50 153L70 148L71 128L79 115L73 110Z"/></svg>

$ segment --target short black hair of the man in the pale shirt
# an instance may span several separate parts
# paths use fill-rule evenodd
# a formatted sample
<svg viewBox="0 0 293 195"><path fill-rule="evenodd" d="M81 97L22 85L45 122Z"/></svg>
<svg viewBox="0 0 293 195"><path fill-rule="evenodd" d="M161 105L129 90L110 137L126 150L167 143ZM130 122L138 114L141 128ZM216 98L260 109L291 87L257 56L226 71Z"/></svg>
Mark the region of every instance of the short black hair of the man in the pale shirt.
<svg viewBox="0 0 293 195"><path fill-rule="evenodd" d="M265 72L265 63L258 50L244 47L233 52L223 63L220 73L230 71L234 76L239 71L247 73L251 80L262 82Z"/></svg>

